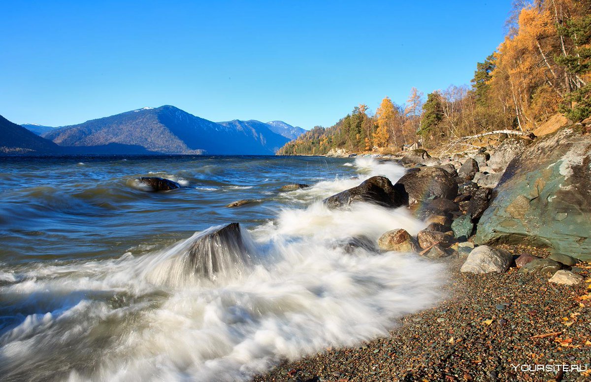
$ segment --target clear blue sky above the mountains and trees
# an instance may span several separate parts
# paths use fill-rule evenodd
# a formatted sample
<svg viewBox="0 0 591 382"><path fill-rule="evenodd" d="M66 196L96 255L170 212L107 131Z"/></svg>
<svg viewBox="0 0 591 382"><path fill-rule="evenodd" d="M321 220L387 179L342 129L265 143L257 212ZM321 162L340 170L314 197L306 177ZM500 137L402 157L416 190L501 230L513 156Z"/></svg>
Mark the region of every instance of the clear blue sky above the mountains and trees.
<svg viewBox="0 0 591 382"><path fill-rule="evenodd" d="M510 0L7 1L0 114L59 126L143 106L330 126L469 83Z"/></svg>

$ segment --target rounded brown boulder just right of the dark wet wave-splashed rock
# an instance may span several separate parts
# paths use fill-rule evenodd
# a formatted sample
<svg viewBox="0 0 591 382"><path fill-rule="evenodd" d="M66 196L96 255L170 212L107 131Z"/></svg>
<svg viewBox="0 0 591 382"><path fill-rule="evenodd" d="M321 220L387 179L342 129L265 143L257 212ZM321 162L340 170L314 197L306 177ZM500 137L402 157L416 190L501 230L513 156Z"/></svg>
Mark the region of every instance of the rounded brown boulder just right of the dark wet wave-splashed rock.
<svg viewBox="0 0 591 382"><path fill-rule="evenodd" d="M395 187L401 190L409 205L433 198L453 200L457 196L457 183L446 170L424 167L408 172Z"/></svg>

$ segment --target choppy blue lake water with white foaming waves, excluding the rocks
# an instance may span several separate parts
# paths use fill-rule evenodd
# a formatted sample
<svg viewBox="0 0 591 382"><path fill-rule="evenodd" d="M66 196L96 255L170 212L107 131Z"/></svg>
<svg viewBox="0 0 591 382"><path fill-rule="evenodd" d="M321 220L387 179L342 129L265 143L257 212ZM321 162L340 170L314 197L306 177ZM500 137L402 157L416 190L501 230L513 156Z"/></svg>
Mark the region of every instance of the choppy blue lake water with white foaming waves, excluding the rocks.
<svg viewBox="0 0 591 382"><path fill-rule="evenodd" d="M340 243L423 223L321 200L403 173L371 158L0 158L1 379L248 380L386 334L436 302L441 266ZM148 193L140 176L186 188ZM312 187L278 191L288 183ZM258 202L225 207L239 199ZM175 276L229 222L248 228L252 261L214 281Z"/></svg>

